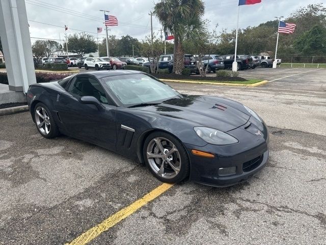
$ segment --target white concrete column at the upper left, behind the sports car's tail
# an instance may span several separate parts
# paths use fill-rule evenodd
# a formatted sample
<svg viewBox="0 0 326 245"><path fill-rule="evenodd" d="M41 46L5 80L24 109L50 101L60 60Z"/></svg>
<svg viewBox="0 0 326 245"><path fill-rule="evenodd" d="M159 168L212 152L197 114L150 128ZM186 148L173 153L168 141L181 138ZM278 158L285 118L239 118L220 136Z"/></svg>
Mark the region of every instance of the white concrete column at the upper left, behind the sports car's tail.
<svg viewBox="0 0 326 245"><path fill-rule="evenodd" d="M1 0L0 23L9 89L26 92L36 78L25 1Z"/></svg>

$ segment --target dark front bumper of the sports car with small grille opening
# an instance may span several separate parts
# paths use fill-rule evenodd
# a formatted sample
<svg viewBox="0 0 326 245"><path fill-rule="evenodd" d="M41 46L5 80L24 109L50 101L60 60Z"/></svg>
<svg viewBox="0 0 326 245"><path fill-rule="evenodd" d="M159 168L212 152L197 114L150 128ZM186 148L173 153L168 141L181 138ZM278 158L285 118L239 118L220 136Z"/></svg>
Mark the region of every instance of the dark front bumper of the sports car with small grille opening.
<svg viewBox="0 0 326 245"><path fill-rule="evenodd" d="M261 130L259 129L261 128ZM198 147L185 144L191 160L190 180L215 186L227 187L247 180L267 162L268 150L268 129L265 124L256 127L251 121L228 133L236 137L239 142L232 145L212 145L207 144ZM256 135L260 132L261 135ZM214 158L205 158L192 154L191 150L209 152L215 155ZM220 168L235 167L235 172L231 175L220 175Z"/></svg>

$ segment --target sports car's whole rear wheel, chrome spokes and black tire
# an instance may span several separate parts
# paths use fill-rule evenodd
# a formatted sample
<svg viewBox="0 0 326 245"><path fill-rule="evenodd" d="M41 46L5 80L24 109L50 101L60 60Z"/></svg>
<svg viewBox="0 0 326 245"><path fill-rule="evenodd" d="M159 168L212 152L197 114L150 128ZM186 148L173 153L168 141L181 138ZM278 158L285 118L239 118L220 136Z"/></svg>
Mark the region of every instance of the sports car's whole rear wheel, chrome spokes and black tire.
<svg viewBox="0 0 326 245"><path fill-rule="evenodd" d="M34 118L37 130L43 137L53 138L59 135L58 126L50 110L43 103L35 106Z"/></svg>

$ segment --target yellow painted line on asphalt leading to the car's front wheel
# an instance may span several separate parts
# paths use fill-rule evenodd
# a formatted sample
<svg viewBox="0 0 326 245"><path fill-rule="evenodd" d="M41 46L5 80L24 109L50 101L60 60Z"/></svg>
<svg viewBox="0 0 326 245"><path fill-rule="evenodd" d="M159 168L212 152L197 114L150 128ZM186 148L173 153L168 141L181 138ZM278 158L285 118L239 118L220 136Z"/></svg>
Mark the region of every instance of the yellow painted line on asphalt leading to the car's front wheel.
<svg viewBox="0 0 326 245"><path fill-rule="evenodd" d="M78 236L74 240L72 240L69 243L66 243L66 245L74 245L74 244L86 244L99 236L102 232L107 231L111 227L115 226L117 223L119 223L124 218L128 217L150 201L157 198L160 194L164 193L168 189L170 189L173 186L173 184L161 184L160 186L153 189L148 194L144 195L143 198L138 199L134 203L130 204L128 207L125 207L118 211L117 213L113 214L112 216L106 218L103 220L102 223L94 226L93 228L89 229L88 231L84 232L82 235Z"/></svg>

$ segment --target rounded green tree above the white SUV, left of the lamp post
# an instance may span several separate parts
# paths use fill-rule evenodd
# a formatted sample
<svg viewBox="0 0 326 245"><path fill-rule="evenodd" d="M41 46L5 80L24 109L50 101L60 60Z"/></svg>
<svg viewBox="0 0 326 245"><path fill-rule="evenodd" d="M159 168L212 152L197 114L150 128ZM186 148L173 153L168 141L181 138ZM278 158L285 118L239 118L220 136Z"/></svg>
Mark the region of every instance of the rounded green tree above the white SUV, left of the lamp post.
<svg viewBox="0 0 326 245"><path fill-rule="evenodd" d="M66 47L66 43L63 44ZM69 35L68 51L78 54L83 57L85 54L94 53L97 51L97 43L94 37L85 32Z"/></svg>

